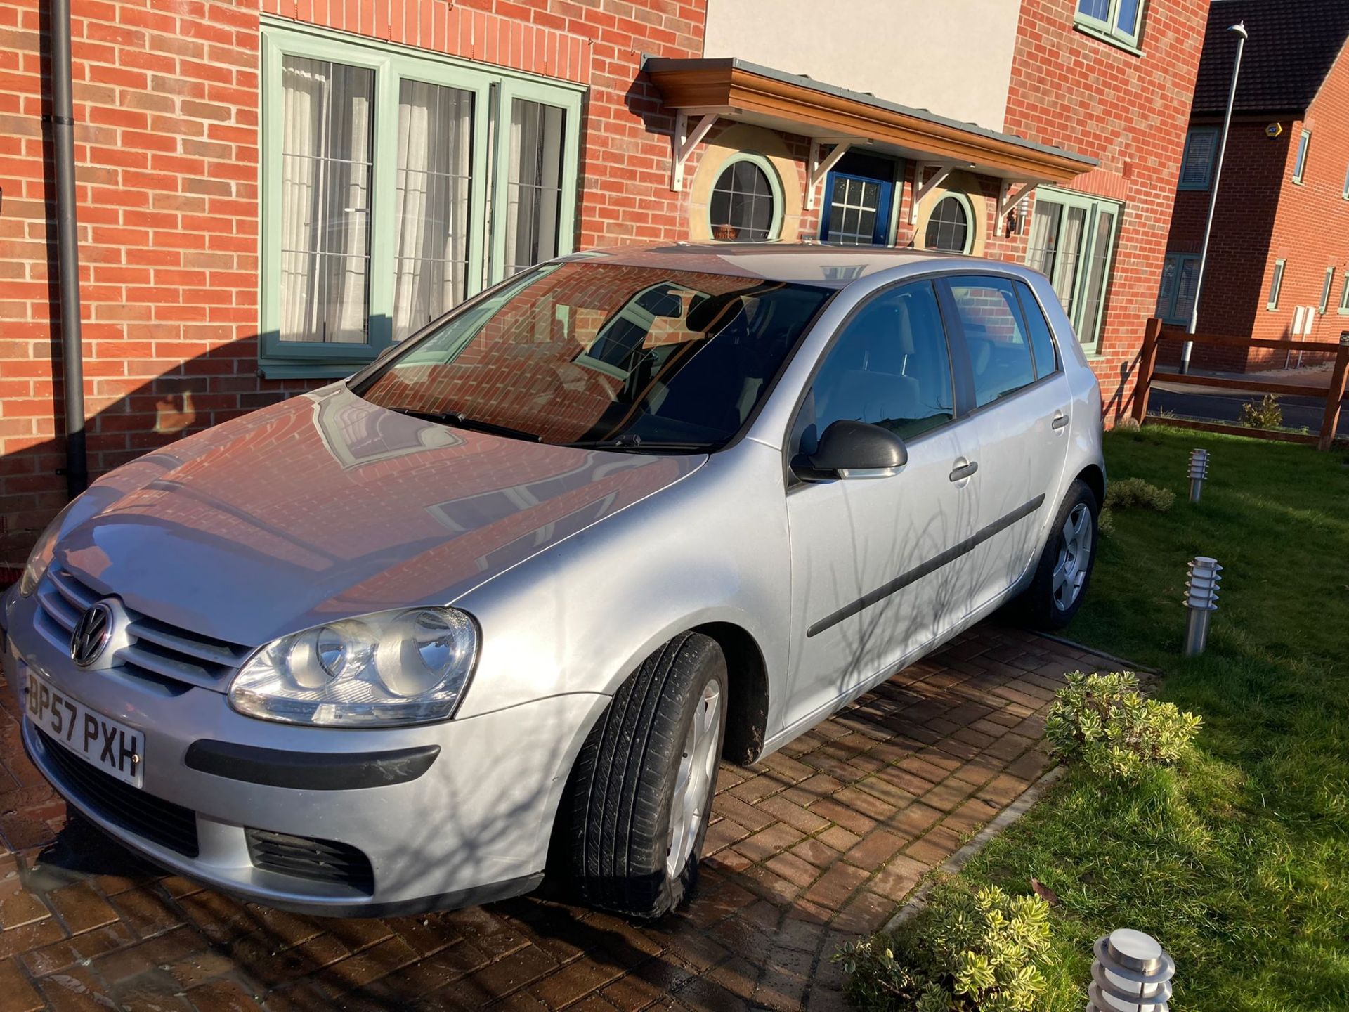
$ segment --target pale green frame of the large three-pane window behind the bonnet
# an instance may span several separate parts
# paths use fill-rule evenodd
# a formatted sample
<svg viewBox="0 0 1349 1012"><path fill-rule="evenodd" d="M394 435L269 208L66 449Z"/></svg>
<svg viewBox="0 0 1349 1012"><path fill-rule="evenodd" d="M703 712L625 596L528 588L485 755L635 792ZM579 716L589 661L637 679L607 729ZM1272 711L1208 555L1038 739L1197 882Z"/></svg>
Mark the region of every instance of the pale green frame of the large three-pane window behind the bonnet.
<svg viewBox="0 0 1349 1012"><path fill-rule="evenodd" d="M372 163L368 197L366 343L281 340L282 320L282 144L286 57L326 61L374 72ZM441 85L472 96L467 267L464 298L505 277L510 167L510 116L517 99L563 111L557 254L573 250L580 163L583 88L480 63L426 54L375 39L263 19L262 38L262 285L259 367L266 378L340 378L374 360L394 343L398 194L399 88L403 81ZM500 209L500 213L494 213Z"/></svg>

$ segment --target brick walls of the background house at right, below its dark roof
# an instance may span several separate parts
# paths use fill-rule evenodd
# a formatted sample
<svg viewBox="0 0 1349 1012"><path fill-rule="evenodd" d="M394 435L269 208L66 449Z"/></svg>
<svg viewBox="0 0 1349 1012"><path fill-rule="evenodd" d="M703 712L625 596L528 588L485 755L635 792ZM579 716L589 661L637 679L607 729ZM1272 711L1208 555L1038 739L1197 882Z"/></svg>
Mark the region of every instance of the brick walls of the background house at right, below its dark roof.
<svg viewBox="0 0 1349 1012"><path fill-rule="evenodd" d="M1283 127L1278 138L1265 134L1271 123ZM1295 184L1292 171L1303 130L1311 131L1311 143L1302 184ZM1259 340L1291 337L1295 308L1319 308L1327 267L1336 270L1327 312L1317 313L1309 339L1336 341L1341 331L1349 329L1349 317L1337 312L1349 271L1344 239L1349 235L1346 171L1349 51L1342 51L1306 119L1272 115L1233 121L1199 298L1201 332ZM1199 252L1207 201L1207 190L1176 196L1168 251ZM1278 259L1286 263L1279 305L1271 310L1267 302ZM1207 368L1280 368L1296 360L1296 355L1273 349L1194 349L1194 363ZM1323 355L1303 356L1309 366L1325 360Z"/></svg>

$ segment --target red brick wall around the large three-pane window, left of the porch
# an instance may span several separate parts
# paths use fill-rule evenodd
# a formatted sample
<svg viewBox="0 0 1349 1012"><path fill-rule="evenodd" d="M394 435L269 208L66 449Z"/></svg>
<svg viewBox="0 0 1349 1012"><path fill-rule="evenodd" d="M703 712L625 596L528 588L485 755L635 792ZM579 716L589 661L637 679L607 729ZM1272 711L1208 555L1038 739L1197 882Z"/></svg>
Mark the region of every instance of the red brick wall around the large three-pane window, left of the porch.
<svg viewBox="0 0 1349 1012"><path fill-rule="evenodd" d="M701 51L701 0L73 0L94 475L314 386L256 375L260 13L588 84L579 246L687 235L638 67ZM65 502L46 19L0 0L0 565Z"/></svg>

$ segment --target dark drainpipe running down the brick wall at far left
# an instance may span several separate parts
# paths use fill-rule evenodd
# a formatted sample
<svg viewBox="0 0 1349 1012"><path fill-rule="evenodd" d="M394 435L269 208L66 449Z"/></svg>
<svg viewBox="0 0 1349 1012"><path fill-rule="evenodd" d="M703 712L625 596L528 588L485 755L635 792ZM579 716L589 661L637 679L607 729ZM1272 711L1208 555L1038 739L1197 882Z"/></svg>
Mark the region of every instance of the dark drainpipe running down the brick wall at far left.
<svg viewBox="0 0 1349 1012"><path fill-rule="evenodd" d="M51 136L57 170L57 269L61 277L61 375L66 407L66 494L89 486L85 453L80 247L76 229L76 121L70 85L70 0L51 0Z"/></svg>

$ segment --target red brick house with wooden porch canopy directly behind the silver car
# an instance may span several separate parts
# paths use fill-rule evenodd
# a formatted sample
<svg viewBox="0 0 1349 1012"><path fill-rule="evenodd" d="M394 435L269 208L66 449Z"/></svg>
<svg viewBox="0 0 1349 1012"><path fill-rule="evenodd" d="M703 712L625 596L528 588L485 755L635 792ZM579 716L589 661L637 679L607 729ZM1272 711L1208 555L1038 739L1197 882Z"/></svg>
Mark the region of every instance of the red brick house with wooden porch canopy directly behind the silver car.
<svg viewBox="0 0 1349 1012"><path fill-rule="evenodd" d="M538 259L650 240L1028 262L1117 418L1207 7L73 0L89 470L348 374ZM47 4L0 0L11 565L66 498L50 38Z"/></svg>

